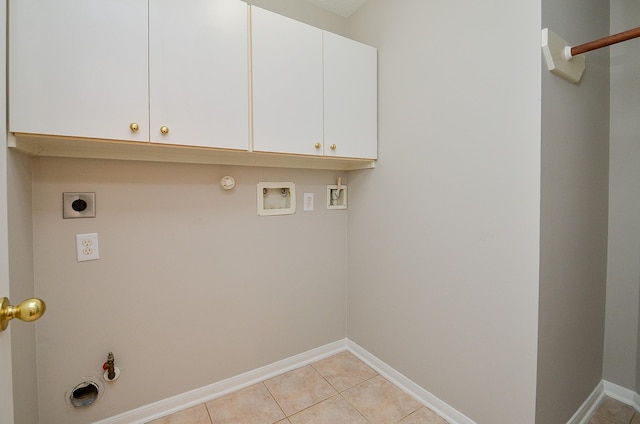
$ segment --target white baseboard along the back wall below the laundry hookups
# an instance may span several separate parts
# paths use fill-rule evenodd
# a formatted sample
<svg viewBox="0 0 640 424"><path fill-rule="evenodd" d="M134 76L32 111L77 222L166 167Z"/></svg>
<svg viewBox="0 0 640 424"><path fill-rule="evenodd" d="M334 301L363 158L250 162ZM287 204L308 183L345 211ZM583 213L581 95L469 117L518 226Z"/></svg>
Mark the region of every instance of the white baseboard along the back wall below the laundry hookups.
<svg viewBox="0 0 640 424"><path fill-rule="evenodd" d="M143 424L183 409L217 399L228 393L235 392L236 390L251 386L287 371L303 367L346 349L347 340L338 340L253 371L97 421L94 424Z"/></svg>

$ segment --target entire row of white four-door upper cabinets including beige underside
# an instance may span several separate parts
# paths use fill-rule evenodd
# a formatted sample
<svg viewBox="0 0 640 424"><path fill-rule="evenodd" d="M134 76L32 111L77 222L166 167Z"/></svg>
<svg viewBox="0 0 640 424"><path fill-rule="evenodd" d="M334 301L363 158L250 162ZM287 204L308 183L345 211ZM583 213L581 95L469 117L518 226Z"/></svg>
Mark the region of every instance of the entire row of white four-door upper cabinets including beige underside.
<svg viewBox="0 0 640 424"><path fill-rule="evenodd" d="M320 169L377 158L376 49L245 1L9 0L8 60L9 145L27 153Z"/></svg>

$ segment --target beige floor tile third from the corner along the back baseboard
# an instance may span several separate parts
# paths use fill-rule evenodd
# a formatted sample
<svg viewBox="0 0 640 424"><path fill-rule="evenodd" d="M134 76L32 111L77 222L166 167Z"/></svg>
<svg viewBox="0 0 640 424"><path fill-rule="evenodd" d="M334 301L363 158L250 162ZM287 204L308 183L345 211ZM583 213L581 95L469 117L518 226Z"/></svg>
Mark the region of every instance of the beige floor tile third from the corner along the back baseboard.
<svg viewBox="0 0 640 424"><path fill-rule="evenodd" d="M273 424L285 415L259 383L206 403L213 424Z"/></svg>

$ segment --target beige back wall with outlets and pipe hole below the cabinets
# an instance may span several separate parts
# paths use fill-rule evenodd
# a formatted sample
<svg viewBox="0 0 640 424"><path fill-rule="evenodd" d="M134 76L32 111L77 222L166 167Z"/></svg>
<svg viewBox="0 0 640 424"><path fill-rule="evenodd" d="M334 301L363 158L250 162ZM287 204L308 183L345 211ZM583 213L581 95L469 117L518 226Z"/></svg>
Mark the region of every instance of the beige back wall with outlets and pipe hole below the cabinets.
<svg viewBox="0 0 640 424"><path fill-rule="evenodd" d="M231 192L218 187L236 179ZM100 160L33 160L40 424L116 415L345 337L346 211L323 207L345 174ZM295 215L258 217L260 181L292 181ZM63 220L65 191L95 219ZM316 209L302 211L302 194ZM76 262L75 235L100 260ZM122 374L86 410L65 392L113 351Z"/></svg>

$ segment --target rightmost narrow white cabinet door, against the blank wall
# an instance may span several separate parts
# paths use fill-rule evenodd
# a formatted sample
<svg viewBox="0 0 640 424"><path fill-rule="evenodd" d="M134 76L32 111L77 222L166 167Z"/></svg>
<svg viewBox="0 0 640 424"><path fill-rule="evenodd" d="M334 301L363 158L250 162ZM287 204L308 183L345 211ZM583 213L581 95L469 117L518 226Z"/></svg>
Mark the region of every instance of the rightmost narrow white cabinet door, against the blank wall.
<svg viewBox="0 0 640 424"><path fill-rule="evenodd" d="M377 50L325 31L326 156L378 157L377 84Z"/></svg>

